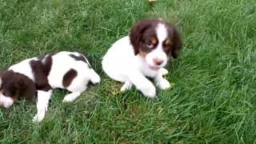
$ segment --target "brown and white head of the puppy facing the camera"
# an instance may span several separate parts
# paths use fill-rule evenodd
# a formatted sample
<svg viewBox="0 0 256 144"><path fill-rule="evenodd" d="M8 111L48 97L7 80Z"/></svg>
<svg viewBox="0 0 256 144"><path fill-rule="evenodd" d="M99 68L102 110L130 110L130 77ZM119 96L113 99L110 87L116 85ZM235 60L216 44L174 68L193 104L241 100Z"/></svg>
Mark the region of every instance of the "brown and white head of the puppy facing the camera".
<svg viewBox="0 0 256 144"><path fill-rule="evenodd" d="M173 24L161 20L142 20L130 31L134 54L140 54L152 70L166 66L170 57L178 58L181 35Z"/></svg>

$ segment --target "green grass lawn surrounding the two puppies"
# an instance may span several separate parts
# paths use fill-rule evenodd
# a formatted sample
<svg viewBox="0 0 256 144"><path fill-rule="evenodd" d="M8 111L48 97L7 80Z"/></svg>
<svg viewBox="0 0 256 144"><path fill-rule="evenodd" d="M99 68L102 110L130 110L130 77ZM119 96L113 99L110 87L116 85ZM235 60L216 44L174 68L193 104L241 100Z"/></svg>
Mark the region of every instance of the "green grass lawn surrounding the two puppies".
<svg viewBox="0 0 256 144"><path fill-rule="evenodd" d="M185 46L170 62L158 101L102 72L111 43L142 18L181 27ZM254 0L0 0L0 65L50 51L80 50L102 82L63 104L54 92L43 122L35 102L0 109L0 143L256 143Z"/></svg>

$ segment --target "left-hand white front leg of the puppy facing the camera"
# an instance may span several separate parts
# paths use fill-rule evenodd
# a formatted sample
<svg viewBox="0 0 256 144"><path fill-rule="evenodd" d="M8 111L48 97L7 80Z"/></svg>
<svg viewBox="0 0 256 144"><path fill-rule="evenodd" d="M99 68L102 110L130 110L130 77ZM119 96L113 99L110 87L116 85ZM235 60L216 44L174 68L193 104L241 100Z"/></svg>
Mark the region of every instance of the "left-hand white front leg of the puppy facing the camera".
<svg viewBox="0 0 256 144"><path fill-rule="evenodd" d="M140 72L129 74L130 82L137 87L138 90L142 91L148 98L155 98L156 90L152 82L150 82L143 74Z"/></svg>

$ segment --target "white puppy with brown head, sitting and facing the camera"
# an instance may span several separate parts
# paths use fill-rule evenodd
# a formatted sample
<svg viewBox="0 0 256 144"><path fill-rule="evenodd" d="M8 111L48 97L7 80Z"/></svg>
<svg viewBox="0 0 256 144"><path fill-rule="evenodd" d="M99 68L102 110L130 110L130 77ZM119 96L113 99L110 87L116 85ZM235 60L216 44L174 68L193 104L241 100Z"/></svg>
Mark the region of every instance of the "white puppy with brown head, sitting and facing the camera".
<svg viewBox="0 0 256 144"><path fill-rule="evenodd" d="M161 20L142 20L135 24L130 35L114 42L102 60L106 74L124 82L121 90L132 85L146 97L155 98L156 89L146 77L154 78L162 90L170 87L162 76L170 57L177 58L182 48L181 36L173 24Z"/></svg>

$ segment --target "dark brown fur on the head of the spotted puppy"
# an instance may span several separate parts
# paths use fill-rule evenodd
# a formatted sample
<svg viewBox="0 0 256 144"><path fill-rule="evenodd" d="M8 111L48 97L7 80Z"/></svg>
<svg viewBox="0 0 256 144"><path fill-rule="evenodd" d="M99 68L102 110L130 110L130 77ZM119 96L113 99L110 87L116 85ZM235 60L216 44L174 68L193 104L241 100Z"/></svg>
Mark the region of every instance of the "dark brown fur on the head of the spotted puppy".
<svg viewBox="0 0 256 144"><path fill-rule="evenodd" d="M35 84L26 75L15 73L13 70L5 70L1 78L0 90L6 97L17 101L19 97L34 98L36 96Z"/></svg>

